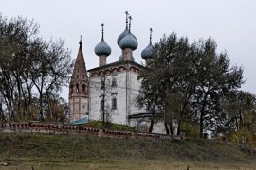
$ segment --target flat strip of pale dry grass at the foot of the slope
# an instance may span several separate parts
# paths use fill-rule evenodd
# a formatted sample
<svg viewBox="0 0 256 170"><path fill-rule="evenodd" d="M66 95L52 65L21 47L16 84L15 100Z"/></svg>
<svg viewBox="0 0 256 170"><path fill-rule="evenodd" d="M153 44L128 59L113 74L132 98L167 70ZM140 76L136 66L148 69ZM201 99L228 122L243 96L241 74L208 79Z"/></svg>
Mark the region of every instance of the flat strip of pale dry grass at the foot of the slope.
<svg viewBox="0 0 256 170"><path fill-rule="evenodd" d="M224 164L198 161L174 161L174 160L81 160L81 161L11 161L11 165L1 167L5 170L84 170L84 169L133 169L133 170L164 170L175 169L256 169L254 164Z"/></svg>

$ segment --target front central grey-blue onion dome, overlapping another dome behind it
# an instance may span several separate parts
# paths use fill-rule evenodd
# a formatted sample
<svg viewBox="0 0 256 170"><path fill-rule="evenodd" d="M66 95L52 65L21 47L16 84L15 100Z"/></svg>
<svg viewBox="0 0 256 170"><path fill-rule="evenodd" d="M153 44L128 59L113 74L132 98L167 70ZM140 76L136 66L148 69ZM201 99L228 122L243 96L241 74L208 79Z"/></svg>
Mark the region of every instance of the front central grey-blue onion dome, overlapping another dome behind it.
<svg viewBox="0 0 256 170"><path fill-rule="evenodd" d="M132 50L137 49L137 39L136 37L128 32L128 34L119 42L119 47L123 50L125 48L130 48Z"/></svg>

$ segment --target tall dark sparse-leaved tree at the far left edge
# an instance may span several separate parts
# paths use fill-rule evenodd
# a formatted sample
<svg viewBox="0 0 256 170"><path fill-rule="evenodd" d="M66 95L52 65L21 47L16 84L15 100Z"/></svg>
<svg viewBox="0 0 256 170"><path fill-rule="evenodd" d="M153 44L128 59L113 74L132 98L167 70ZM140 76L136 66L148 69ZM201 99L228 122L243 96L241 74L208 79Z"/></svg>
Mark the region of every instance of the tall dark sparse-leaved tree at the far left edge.
<svg viewBox="0 0 256 170"><path fill-rule="evenodd" d="M38 33L34 21L17 17L8 21L0 15L0 92L9 117L21 117L21 98L27 92L23 73L31 70L29 47Z"/></svg>

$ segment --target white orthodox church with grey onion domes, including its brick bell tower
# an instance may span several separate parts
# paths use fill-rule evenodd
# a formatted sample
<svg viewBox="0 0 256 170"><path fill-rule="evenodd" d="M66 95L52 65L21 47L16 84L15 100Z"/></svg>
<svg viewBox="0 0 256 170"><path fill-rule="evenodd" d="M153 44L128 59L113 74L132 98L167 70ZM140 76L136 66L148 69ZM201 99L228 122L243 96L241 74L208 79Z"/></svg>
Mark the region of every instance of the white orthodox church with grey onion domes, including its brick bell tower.
<svg viewBox="0 0 256 170"><path fill-rule="evenodd" d="M137 38L131 32L132 18L128 15L126 12L126 27L117 40L122 51L118 61L107 64L111 48L104 41L103 24L101 42L94 49L99 57L99 67L86 70L82 41L79 42L79 51L69 83L70 121L87 117L90 121L110 121L147 132L151 114L144 109L139 110L136 105L141 85L137 76L144 66L138 64L133 57L133 51L137 49ZM149 45L141 52L146 63L152 59L153 54L151 35L152 29ZM163 123L155 124L153 132L164 133Z"/></svg>

